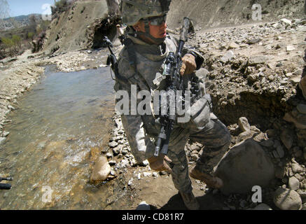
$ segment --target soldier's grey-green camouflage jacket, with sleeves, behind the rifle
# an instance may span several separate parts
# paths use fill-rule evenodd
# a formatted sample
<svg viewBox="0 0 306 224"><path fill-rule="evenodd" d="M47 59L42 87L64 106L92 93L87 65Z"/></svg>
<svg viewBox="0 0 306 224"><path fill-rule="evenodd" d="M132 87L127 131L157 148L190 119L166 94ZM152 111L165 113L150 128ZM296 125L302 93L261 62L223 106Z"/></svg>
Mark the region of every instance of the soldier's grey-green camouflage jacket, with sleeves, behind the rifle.
<svg viewBox="0 0 306 224"><path fill-rule="evenodd" d="M131 85L137 85L137 91L157 90L162 81L162 64L169 52L176 52L177 43L174 38L167 36L164 44L148 45L144 41L129 36L134 43L137 56L137 69L130 66L127 48L123 48L118 58L118 73L125 80L116 79L114 89L125 90L131 94ZM189 52L185 50L185 53ZM199 55L199 57L202 57ZM202 66L202 58L196 59L197 69ZM186 76L187 77L187 76ZM118 102L118 101L117 101ZM139 99L137 99L139 103ZM160 125L155 123L153 115L122 115L123 127L129 141L134 158L141 162L153 156L155 151L154 139L158 136ZM175 134L175 132L172 132ZM179 133L178 133L179 134Z"/></svg>

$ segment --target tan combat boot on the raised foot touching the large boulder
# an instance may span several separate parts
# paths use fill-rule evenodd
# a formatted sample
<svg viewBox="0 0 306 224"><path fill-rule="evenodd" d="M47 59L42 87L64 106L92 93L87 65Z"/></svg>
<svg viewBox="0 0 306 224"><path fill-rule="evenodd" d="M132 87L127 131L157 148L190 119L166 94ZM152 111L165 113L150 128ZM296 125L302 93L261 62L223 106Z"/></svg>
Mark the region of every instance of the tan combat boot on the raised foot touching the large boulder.
<svg viewBox="0 0 306 224"><path fill-rule="evenodd" d="M189 175L193 179L197 179L200 181L204 181L209 188L222 188L223 187L223 181L219 179L216 176L211 176L209 174L204 174L197 170L195 167L190 169Z"/></svg>

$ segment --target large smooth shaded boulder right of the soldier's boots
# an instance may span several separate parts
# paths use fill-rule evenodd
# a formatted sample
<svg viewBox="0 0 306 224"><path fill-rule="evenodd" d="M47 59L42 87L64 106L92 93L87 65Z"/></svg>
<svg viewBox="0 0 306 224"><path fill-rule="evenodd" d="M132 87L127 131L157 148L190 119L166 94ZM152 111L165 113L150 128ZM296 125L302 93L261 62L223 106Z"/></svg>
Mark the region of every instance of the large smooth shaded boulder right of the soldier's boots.
<svg viewBox="0 0 306 224"><path fill-rule="evenodd" d="M274 165L256 141L247 139L225 153L215 174L223 180L223 194L251 193L253 186L264 188L274 179Z"/></svg>

